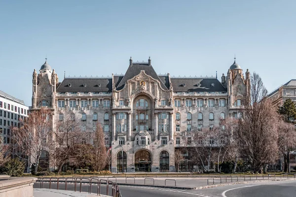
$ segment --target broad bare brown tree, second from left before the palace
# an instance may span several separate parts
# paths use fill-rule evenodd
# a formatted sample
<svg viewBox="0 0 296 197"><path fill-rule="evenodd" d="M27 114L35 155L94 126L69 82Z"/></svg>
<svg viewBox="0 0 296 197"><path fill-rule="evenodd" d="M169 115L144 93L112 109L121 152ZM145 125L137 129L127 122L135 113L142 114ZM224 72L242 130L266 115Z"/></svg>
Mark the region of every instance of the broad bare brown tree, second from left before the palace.
<svg viewBox="0 0 296 197"><path fill-rule="evenodd" d="M78 166L77 160L84 147L81 144L89 143L90 132L81 131L81 125L86 127L86 122L77 120L74 113L60 114L56 121L55 131L53 131L53 140L51 141L52 159L58 166L58 172L62 171L66 163ZM83 151L81 152L83 154Z"/></svg>

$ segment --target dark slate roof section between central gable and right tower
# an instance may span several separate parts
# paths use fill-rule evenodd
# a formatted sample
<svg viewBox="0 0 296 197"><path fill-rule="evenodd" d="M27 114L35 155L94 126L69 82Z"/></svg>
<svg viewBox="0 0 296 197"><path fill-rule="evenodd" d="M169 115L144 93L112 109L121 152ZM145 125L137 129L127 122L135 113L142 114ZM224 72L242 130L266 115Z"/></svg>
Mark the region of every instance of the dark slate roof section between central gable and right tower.
<svg viewBox="0 0 296 197"><path fill-rule="evenodd" d="M174 92L227 92L215 77L171 78Z"/></svg>

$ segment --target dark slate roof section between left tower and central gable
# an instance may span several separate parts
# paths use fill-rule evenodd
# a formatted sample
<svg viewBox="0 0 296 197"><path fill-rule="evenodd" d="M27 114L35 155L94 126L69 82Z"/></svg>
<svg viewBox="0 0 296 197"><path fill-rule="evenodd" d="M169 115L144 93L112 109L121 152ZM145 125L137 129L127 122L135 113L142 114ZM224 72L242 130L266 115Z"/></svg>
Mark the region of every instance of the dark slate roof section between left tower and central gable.
<svg viewBox="0 0 296 197"><path fill-rule="evenodd" d="M65 78L57 92L112 92L112 78Z"/></svg>

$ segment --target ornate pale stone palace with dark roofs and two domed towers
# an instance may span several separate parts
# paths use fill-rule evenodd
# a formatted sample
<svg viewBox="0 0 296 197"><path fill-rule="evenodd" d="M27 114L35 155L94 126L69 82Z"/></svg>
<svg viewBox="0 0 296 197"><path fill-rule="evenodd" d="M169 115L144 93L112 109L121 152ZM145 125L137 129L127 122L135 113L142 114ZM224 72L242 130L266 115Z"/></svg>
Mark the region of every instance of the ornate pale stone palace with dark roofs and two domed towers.
<svg viewBox="0 0 296 197"><path fill-rule="evenodd" d="M46 60L33 73L32 110L52 109L53 125L64 114L73 114L86 132L100 123L111 146L112 172L175 171L175 150L189 145L190 132L219 126L221 118L238 118L249 91L250 72L244 77L235 61L221 81L217 74L159 75L150 58L130 58L124 75L64 77L59 82ZM188 153L184 156L183 168L192 170Z"/></svg>

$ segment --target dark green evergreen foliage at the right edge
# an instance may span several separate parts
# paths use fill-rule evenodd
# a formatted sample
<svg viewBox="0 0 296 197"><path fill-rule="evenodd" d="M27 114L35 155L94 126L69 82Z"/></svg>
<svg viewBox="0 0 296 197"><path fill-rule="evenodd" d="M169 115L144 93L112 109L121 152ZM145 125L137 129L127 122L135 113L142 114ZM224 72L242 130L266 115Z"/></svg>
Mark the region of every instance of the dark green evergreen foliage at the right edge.
<svg viewBox="0 0 296 197"><path fill-rule="evenodd" d="M294 123L296 121L296 104L291 99L287 99L284 104L279 107L278 112L283 115L286 122Z"/></svg>

